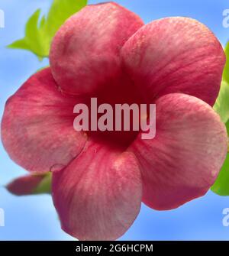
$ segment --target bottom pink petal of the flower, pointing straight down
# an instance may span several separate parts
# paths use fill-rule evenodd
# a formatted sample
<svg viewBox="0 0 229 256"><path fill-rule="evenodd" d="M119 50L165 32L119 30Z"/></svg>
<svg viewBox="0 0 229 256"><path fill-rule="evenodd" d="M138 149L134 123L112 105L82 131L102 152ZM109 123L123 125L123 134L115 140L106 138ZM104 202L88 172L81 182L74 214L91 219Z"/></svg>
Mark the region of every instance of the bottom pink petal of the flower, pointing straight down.
<svg viewBox="0 0 229 256"><path fill-rule="evenodd" d="M127 231L141 203L131 152L90 142L65 170L53 173L53 201L65 232L80 240L113 240Z"/></svg>

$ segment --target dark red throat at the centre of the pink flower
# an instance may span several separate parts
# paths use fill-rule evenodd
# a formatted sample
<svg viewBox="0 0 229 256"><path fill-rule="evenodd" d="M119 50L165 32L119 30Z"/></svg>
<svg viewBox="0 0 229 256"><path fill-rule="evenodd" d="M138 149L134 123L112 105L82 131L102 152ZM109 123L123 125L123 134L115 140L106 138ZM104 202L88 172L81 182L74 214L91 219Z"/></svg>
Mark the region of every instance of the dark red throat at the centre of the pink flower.
<svg viewBox="0 0 229 256"><path fill-rule="evenodd" d="M95 104L92 105L92 99L96 100L96 107ZM112 79L103 86L100 92L94 93L87 99L86 104L90 112L88 135L94 139L116 144L120 147L128 147L139 133L140 129L135 131L134 123L136 124L138 122L138 124L140 124L140 104L143 103L140 92L137 91L131 79L124 75ZM104 109L104 111L100 109L99 111L99 106L101 105L109 105L112 111L108 112L108 109ZM117 112L117 105L121 107L121 112ZM137 111L139 111L138 117L134 115L133 105L137 107ZM124 106L126 107L126 111L124 110ZM108 125L109 121L111 121L109 123L110 126ZM94 122L96 122L97 125L96 131L92 129L92 126L94 126L95 130ZM121 122L121 124L117 125L117 122ZM100 129L98 127L99 125L104 125L105 128ZM117 129L117 126L119 126L119 129Z"/></svg>

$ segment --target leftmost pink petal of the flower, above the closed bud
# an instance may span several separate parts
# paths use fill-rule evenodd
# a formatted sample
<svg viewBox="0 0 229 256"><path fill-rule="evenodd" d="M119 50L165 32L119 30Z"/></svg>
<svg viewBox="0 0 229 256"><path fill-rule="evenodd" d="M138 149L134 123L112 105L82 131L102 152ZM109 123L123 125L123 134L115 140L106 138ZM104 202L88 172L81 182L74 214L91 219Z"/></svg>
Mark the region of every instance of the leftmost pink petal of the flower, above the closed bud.
<svg viewBox="0 0 229 256"><path fill-rule="evenodd" d="M69 164L86 141L73 128L76 102L58 91L50 68L31 76L8 99L2 118L2 142L11 159L34 172Z"/></svg>

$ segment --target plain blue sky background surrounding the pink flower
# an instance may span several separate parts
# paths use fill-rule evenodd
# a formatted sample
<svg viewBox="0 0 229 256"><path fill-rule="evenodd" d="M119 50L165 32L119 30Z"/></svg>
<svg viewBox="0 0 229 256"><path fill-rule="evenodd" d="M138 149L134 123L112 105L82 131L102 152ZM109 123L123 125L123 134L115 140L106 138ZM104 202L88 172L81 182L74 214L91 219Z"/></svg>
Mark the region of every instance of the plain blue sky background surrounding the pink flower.
<svg viewBox="0 0 229 256"><path fill-rule="evenodd" d="M76 0L77 1L77 0ZM89 3L103 1L89 1ZM126 0L116 1L135 11L147 23L166 16L189 16L206 24L221 43L229 40L229 28L223 28L222 12L229 9L228 0ZM0 0L5 11L5 28L0 28L0 116L5 101L32 73L47 60L39 62L32 53L9 50L7 44L24 35L24 24L37 8L46 13L51 0ZM0 226L0 240L70 240L57 219L50 196L12 196L5 183L24 174L13 163L0 142L0 208L5 210L5 227ZM222 225L222 211L229 207L229 197L208 192L168 212L157 212L142 206L134 225L122 240L206 240L229 239L229 227Z"/></svg>

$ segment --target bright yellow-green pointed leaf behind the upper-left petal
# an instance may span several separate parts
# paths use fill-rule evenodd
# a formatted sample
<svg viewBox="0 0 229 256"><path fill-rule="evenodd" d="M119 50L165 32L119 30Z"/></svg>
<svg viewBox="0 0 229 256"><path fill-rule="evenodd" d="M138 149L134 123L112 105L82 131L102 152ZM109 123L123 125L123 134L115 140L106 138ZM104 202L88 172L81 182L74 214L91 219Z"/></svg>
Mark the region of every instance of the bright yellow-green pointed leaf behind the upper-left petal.
<svg viewBox="0 0 229 256"><path fill-rule="evenodd" d="M67 18L87 4L87 0L53 0L47 18L40 18L40 9L29 18L24 38L8 45L9 48L30 50L42 60L49 56L53 36Z"/></svg>

